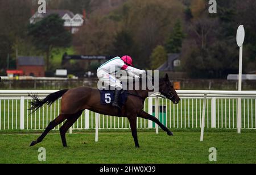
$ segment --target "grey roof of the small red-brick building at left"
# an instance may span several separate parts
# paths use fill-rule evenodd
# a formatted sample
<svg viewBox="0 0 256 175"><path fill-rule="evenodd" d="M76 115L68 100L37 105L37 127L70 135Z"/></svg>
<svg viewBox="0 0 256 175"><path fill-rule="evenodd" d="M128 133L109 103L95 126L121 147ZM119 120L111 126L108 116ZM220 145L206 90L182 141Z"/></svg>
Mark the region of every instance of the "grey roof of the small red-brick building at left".
<svg viewBox="0 0 256 175"><path fill-rule="evenodd" d="M44 66L44 58L37 56L19 56L18 65Z"/></svg>

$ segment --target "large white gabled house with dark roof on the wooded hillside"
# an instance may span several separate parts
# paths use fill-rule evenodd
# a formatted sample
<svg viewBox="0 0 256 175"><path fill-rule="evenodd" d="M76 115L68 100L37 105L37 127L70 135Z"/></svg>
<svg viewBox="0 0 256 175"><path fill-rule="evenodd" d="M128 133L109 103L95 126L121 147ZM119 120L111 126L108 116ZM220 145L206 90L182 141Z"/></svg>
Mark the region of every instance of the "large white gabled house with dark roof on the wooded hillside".
<svg viewBox="0 0 256 175"><path fill-rule="evenodd" d="M30 18L30 23L35 24L36 22L39 22L43 18L46 18L52 14L58 14L61 19L65 20L64 27L67 28L67 30L72 34L75 34L77 31L79 31L79 28L84 25L86 19L85 11L84 14L81 15L73 14L73 12L69 10L47 10L46 14L40 14L39 12L36 12L34 15L32 15Z"/></svg>

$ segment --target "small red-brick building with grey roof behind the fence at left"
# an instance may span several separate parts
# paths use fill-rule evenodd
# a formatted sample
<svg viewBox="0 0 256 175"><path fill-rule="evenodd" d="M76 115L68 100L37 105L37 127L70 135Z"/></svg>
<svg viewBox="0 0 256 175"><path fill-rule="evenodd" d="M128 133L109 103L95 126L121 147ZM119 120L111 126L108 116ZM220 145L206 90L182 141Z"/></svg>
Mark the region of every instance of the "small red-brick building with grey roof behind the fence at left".
<svg viewBox="0 0 256 175"><path fill-rule="evenodd" d="M44 58L35 56L19 56L17 69L22 70L24 76L45 77Z"/></svg>

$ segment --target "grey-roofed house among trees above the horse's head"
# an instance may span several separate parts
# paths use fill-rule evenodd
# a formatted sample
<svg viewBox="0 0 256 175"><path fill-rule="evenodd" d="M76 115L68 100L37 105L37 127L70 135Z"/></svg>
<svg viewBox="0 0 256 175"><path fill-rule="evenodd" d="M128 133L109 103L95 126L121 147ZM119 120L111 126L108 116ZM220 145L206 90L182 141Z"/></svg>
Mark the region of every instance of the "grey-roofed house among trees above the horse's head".
<svg viewBox="0 0 256 175"><path fill-rule="evenodd" d="M168 59L164 64L162 64L158 70L161 72L175 72L176 68L179 68L181 65L180 54L171 53L168 54Z"/></svg>

